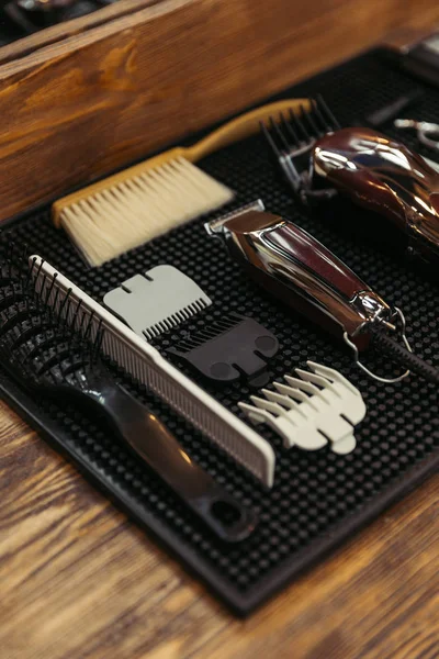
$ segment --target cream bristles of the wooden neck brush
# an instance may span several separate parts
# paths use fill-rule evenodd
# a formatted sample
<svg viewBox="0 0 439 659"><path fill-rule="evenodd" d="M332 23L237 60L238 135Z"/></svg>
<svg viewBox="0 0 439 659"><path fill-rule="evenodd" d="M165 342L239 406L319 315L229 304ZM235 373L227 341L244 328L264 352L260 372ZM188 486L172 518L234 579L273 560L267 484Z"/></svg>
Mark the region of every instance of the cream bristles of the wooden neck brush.
<svg viewBox="0 0 439 659"><path fill-rule="evenodd" d="M177 158L66 206L60 221L88 263L100 266L233 197L229 188Z"/></svg>

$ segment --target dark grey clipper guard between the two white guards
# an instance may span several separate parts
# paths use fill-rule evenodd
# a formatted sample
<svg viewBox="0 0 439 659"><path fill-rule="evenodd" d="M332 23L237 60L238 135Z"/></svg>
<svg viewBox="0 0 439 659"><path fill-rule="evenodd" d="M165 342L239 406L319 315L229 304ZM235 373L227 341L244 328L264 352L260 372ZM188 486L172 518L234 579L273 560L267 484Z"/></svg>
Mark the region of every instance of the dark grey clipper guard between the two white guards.
<svg viewBox="0 0 439 659"><path fill-rule="evenodd" d="M251 387L268 382L263 358L279 349L275 336L254 319L232 313L212 321L203 330L188 333L167 353L214 382L234 382L245 377Z"/></svg>

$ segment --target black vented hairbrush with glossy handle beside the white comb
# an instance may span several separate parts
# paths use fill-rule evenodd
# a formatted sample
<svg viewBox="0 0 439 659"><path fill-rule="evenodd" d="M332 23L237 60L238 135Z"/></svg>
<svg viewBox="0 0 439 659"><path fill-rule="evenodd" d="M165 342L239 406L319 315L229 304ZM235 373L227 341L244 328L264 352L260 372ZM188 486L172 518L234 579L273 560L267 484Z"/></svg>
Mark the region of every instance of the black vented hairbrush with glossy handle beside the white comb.
<svg viewBox="0 0 439 659"><path fill-rule="evenodd" d="M102 320L91 339L93 316L81 301L48 288L35 290L32 271L1 268L0 358L26 390L97 409L122 439L218 537L234 543L255 527L251 510L228 494L183 450L150 410L117 384L101 359ZM47 305L55 293L57 304Z"/></svg>

